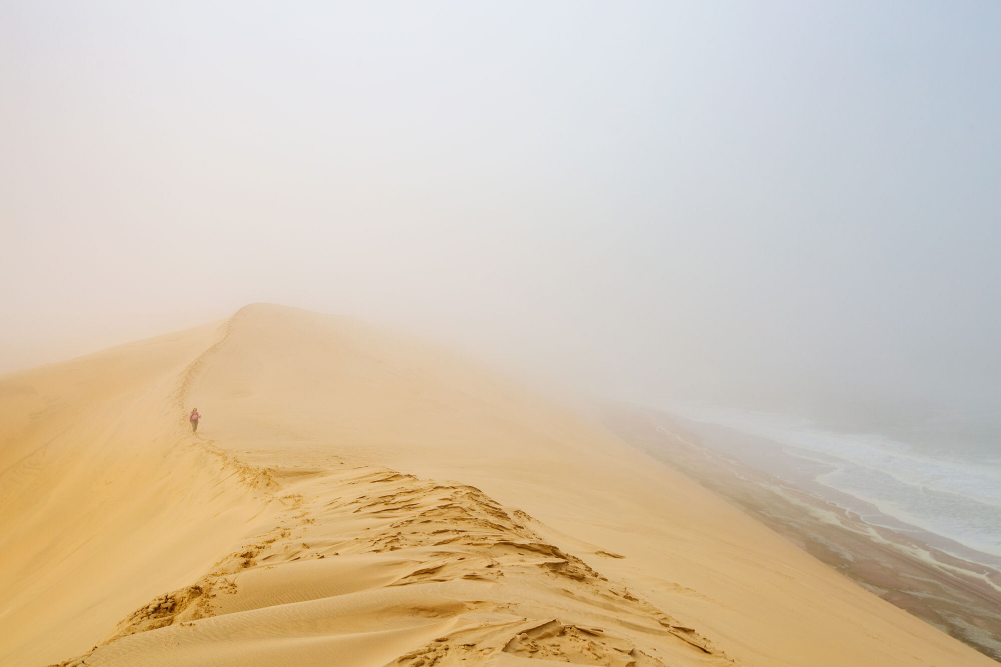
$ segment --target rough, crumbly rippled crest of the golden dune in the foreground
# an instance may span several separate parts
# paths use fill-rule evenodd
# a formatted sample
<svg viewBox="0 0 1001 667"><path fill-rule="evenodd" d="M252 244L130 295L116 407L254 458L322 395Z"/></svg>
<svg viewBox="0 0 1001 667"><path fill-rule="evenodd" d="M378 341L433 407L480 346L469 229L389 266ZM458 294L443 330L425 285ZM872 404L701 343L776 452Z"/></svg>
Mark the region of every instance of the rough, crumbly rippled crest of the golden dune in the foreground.
<svg viewBox="0 0 1001 667"><path fill-rule="evenodd" d="M478 489L334 465L262 470L273 526L60 665L733 664Z"/></svg>

